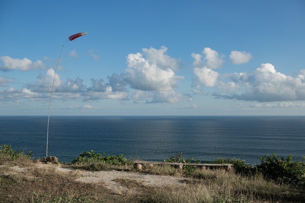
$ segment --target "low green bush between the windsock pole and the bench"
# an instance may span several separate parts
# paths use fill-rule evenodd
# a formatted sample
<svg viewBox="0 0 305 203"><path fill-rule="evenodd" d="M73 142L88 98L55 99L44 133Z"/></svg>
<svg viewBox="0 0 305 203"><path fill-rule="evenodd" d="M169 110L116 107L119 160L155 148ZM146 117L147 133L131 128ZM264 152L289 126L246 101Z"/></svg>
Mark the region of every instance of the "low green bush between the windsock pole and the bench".
<svg viewBox="0 0 305 203"><path fill-rule="evenodd" d="M103 156L105 153L95 153L93 150L87 152L81 152L75 160L72 161L73 164L84 164L84 163L94 163L101 162L104 164L111 165L127 165L129 161L125 158L123 154L118 156Z"/></svg>

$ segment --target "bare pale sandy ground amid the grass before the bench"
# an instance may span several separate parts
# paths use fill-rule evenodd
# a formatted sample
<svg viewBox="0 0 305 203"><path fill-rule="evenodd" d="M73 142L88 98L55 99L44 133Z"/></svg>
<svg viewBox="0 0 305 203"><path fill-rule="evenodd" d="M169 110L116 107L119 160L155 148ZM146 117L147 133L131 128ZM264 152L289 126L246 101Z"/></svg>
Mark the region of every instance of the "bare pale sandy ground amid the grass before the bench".
<svg viewBox="0 0 305 203"><path fill-rule="evenodd" d="M136 192L133 189L127 188L124 185L118 183L118 179L125 179L126 181L132 180L142 185L148 186L169 186L169 185L183 185L183 181L187 178L177 176L162 176L152 175L140 172L126 172L126 171L85 171L85 170L73 170L69 168L63 168L60 165L54 164L35 164L37 167L55 167L56 170L69 173L71 171L77 171L80 175L75 181L89 184L103 184L107 188L111 189L115 193L122 192ZM26 170L24 167L14 166L10 167L11 173L22 173Z"/></svg>

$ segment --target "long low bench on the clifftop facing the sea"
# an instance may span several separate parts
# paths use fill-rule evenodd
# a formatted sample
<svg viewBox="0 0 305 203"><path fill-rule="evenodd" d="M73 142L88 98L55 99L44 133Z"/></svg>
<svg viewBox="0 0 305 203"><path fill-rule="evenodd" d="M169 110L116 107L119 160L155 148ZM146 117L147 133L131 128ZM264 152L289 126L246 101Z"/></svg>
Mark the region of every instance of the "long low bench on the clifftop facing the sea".
<svg viewBox="0 0 305 203"><path fill-rule="evenodd" d="M149 162L149 161L133 161L133 166L137 170L142 170L142 165L173 165L176 168L182 170L183 166L198 166L199 168L205 170L206 167L209 168L226 168L227 170L231 170L233 164L193 164L193 163L172 163L172 162Z"/></svg>

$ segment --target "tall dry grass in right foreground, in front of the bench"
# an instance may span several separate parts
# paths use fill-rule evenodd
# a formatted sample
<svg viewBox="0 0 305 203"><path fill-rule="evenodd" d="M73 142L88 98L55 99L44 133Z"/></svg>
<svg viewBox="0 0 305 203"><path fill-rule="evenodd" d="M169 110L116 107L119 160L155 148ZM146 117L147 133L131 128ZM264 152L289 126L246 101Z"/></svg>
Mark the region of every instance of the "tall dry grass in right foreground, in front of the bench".
<svg viewBox="0 0 305 203"><path fill-rule="evenodd" d="M248 203L305 201L303 191L268 183L262 176L242 177L224 170L195 171L181 187L153 188L145 203Z"/></svg>

